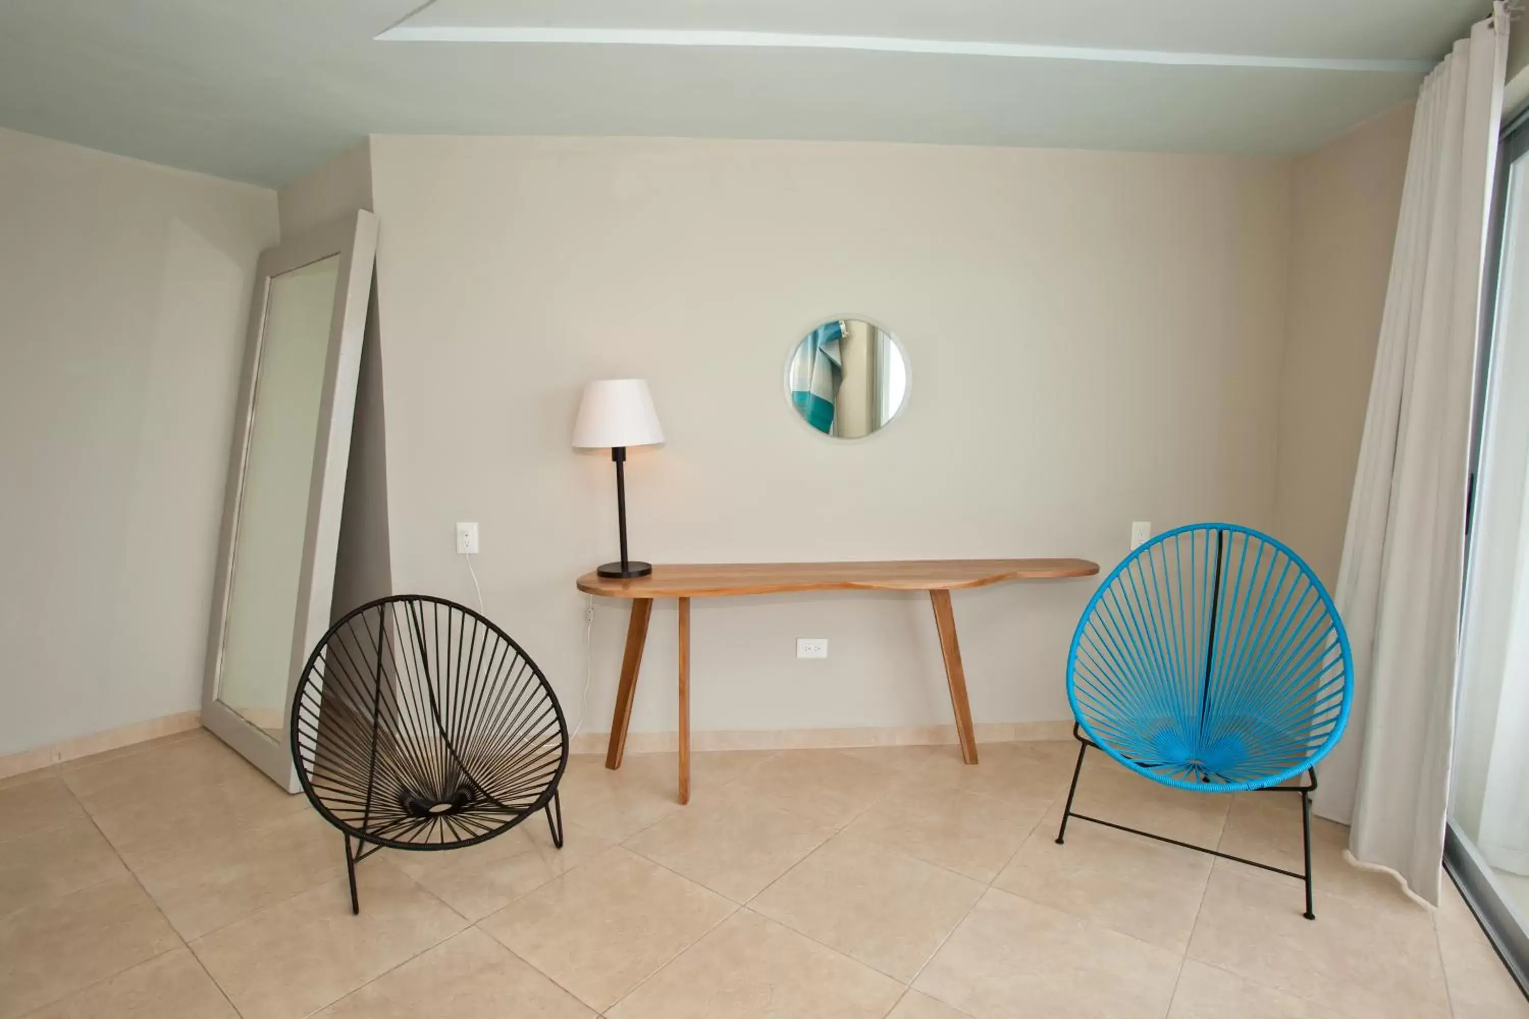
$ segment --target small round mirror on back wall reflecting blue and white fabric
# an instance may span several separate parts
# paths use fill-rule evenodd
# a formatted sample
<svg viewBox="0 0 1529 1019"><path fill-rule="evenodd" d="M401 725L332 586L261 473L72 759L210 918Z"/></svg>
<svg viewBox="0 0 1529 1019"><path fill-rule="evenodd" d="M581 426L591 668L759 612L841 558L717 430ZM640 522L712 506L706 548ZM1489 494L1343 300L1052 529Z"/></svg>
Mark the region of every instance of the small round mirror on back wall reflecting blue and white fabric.
<svg viewBox="0 0 1529 1019"><path fill-rule="evenodd" d="M801 338L786 396L824 435L864 438L908 400L908 359L898 338L858 318L830 319Z"/></svg>

